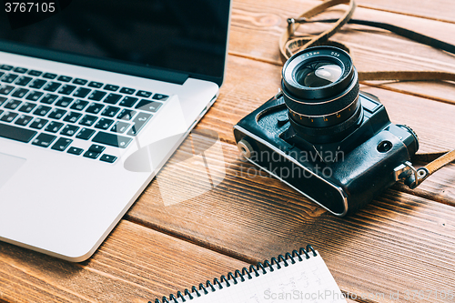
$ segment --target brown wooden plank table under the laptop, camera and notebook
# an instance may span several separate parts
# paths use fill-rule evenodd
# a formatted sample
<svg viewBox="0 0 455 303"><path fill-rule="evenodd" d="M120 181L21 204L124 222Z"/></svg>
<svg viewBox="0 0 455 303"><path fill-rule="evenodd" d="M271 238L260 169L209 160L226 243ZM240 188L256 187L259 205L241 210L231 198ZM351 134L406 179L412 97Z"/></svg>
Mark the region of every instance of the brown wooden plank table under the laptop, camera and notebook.
<svg viewBox="0 0 455 303"><path fill-rule="evenodd" d="M318 3L234 1L226 82L197 126L219 134L222 148L209 156L212 174L223 177L226 172L219 185L178 203L161 196L160 187L186 197L191 194L187 191L204 185L206 171L195 169L194 163L177 163L191 153L188 139L160 172L160 182L152 181L86 262L72 264L0 243L0 301L147 302L310 243L345 292L399 291L400 301L453 302L440 298L440 292L455 293L454 164L414 191L396 185L346 218L330 215L273 177L242 174L252 166L239 157L232 126L276 94L278 37L286 18ZM355 17L405 26L455 44L455 5L450 0L358 4ZM304 28L312 32L319 26ZM455 70L455 57L439 50L387 31L343 28L335 39L350 46L360 71ZM455 147L453 83L369 83L361 89L379 96L392 122L418 133L420 152ZM425 298L404 299L409 290L423 290ZM397 302L389 296L380 301Z"/></svg>

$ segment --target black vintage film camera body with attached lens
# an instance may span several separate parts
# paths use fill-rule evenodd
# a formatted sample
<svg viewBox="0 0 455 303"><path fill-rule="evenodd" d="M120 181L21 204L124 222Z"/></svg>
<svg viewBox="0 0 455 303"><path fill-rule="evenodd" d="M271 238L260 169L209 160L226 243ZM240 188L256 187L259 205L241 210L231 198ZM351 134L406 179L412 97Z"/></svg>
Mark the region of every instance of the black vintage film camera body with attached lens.
<svg viewBox="0 0 455 303"><path fill-rule="evenodd" d="M410 127L390 123L379 99L359 92L351 58L332 46L291 56L281 91L234 135L249 162L337 216L397 182L419 149Z"/></svg>

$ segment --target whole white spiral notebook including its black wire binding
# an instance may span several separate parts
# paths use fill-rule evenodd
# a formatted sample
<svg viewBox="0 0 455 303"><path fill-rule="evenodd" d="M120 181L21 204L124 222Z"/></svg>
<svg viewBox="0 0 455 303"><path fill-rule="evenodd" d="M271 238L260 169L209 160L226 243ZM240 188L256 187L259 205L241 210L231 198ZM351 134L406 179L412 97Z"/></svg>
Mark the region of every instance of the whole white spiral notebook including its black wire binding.
<svg viewBox="0 0 455 303"><path fill-rule="evenodd" d="M311 246L214 278L155 303L345 302L324 260ZM152 302L149 302L152 303Z"/></svg>

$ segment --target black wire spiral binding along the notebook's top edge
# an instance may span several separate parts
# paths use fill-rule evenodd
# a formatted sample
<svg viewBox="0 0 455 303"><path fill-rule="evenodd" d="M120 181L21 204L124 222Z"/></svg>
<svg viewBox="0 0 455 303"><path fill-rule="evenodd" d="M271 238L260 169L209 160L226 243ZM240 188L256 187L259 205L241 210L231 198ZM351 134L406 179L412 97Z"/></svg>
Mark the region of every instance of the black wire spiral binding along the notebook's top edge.
<svg viewBox="0 0 455 303"><path fill-rule="evenodd" d="M310 258L308 254L309 252L312 252L314 257L318 256L314 248L310 245L307 245L306 248L301 247L298 250L295 249L292 251L292 253L286 253L284 256L279 255L278 258L271 258L270 261L265 260L263 263L259 262L256 266L251 265L249 268L242 268L241 271L236 270L234 273L229 272L227 274L227 277L223 275L219 279L214 278L213 283L207 280L206 285L204 286L203 283L200 283L198 289L196 286L193 286L191 287L191 290L188 290L188 288L186 288L183 293L181 291L177 291L176 296L174 294L171 294L168 298L163 297L162 301L157 298L155 299L155 303L179 303L178 298L181 298L182 302L187 302L187 299L185 297L189 298L189 300L192 300L193 298L201 297L202 291L204 292L204 295L207 295L209 293L209 290L211 292L217 291L217 288L215 288L215 286L217 286L218 289L222 289L223 286L221 283L223 282L226 283L226 287L228 288L231 286L229 281L233 282L233 284L236 285L238 284L238 278L241 282L244 282L246 280L246 277L248 277L248 279L253 278L253 275L255 277L259 277L259 271L262 271L262 274L267 274L266 268L269 268L270 272L274 271L275 269L273 268L273 265L277 265L277 268L280 269L280 262L283 262L284 266L288 267L289 260L291 264L295 264L296 258L298 258L298 261L303 260L302 255L305 255L305 257L308 259ZM148 303L152 302L148 301Z"/></svg>

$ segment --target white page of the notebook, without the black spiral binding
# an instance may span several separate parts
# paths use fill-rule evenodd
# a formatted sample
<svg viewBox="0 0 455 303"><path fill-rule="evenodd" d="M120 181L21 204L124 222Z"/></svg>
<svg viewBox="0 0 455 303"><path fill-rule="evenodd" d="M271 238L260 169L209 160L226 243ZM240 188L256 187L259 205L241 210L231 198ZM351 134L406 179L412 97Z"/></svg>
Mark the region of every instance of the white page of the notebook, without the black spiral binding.
<svg viewBox="0 0 455 303"><path fill-rule="evenodd" d="M280 262L281 268L274 265L273 272L267 268L267 274L262 269L258 270L259 277L253 272L252 278L245 277L245 281L238 279L238 284L229 280L230 287L225 283L223 288L214 287L216 291L209 290L207 295L196 297L189 302L197 303L339 303L345 302L335 279L331 276L324 260L319 256L310 258L302 256L303 260L296 260L295 264L288 260L288 267ZM203 294L203 291L199 291ZM183 302L178 299L178 302ZM188 302L188 300L187 300Z"/></svg>

